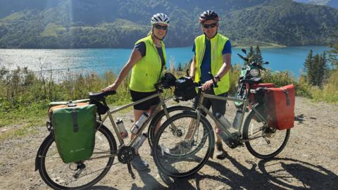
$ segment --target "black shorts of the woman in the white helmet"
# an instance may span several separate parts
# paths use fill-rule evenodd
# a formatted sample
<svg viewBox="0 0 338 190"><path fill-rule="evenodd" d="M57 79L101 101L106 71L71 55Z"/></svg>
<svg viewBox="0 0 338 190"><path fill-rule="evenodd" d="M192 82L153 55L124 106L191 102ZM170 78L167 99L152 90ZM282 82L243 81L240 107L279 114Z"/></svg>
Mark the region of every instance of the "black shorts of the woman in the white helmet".
<svg viewBox="0 0 338 190"><path fill-rule="evenodd" d="M130 90L132 101L138 101L140 99L144 99L153 94L156 94L156 91L142 92L142 91ZM134 109L135 110L149 110L151 106L157 105L158 103L160 103L160 99L158 99L158 97L155 97L153 99L144 101L142 103L137 103L136 105L134 105Z"/></svg>

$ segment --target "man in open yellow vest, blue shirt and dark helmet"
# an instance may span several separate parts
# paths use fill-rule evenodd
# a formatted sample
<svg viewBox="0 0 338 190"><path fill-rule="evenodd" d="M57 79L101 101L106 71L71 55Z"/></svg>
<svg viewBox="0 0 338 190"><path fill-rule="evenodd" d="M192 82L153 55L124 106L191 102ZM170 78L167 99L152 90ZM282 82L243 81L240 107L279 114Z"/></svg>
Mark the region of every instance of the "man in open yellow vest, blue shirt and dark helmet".
<svg viewBox="0 0 338 190"><path fill-rule="evenodd" d="M231 44L227 37L218 34L219 18L214 11L204 11L199 17L201 29L204 32L194 40L194 57L190 66L190 77L195 82L203 84L202 90L207 94L217 96L227 96L230 89L229 70L231 69ZM214 76L214 79L208 74ZM213 81L217 82L218 87L213 87ZM199 97L194 101L197 106ZM204 99L203 105L212 108L213 115L224 115L226 101ZM217 114L216 114L217 113ZM216 134L219 129L216 126ZM216 135L216 158L224 159L226 152L223 149L222 140Z"/></svg>

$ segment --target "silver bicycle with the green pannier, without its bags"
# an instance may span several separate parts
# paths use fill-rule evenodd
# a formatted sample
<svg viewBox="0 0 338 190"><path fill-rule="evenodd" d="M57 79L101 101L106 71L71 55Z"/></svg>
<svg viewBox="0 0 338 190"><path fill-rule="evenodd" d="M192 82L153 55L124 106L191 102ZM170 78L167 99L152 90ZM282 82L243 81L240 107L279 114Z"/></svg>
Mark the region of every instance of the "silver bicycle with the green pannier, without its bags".
<svg viewBox="0 0 338 190"><path fill-rule="evenodd" d="M130 161L135 156L135 149L137 146L140 146L140 139L142 139L142 135L149 136L149 144L152 144L156 125L161 125L163 120L167 120L170 115L182 112L182 110L193 110L187 106L167 107L165 105L165 101L168 99L164 99L162 95L165 86L160 82L156 84L155 87L156 94L134 103L128 103L127 105L115 108L114 110L110 110L108 108L106 96L115 94L115 91L89 93L90 101L96 104L99 111L96 117L97 126L94 153L88 160L82 160L77 163L63 163L61 157L58 155L54 141L54 128L51 125L51 122L47 122L47 129L50 134L42 142L35 159L35 170L39 170L39 175L42 177L44 182L53 189L86 189L99 182L99 180L107 174L108 170L110 170L113 165L115 157L118 158L120 163L127 164L127 168L134 178ZM118 126L115 124L116 120L113 118L113 113L117 113L120 110L124 110L125 108L129 108L137 103L142 103L155 97L160 99L160 103L156 106L154 111L149 114L149 117L146 118L143 125L138 126L139 130L137 134L135 134L134 139L132 139L132 141L128 144L125 144L123 137L119 132ZM102 108L106 108L106 110L102 110ZM117 146L112 132L104 125L107 118L111 121L115 137L118 138L118 142L120 143L119 146ZM148 124L149 129L146 133L148 135L142 134ZM173 126L172 129L172 133L182 133L180 132L180 129L177 129L175 126Z"/></svg>

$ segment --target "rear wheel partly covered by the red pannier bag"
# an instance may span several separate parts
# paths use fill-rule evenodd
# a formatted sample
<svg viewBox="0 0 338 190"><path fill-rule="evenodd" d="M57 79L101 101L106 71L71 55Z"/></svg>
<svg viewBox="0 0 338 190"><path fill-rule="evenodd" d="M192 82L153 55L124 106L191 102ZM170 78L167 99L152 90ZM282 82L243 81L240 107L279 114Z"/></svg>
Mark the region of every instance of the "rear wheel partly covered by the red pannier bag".
<svg viewBox="0 0 338 190"><path fill-rule="evenodd" d="M256 110L263 109L257 108ZM264 115L261 111L260 113ZM256 158L273 158L287 145L290 129L277 130L268 127L258 118L257 113L251 110L244 122L243 137L248 140L245 142L245 146Z"/></svg>

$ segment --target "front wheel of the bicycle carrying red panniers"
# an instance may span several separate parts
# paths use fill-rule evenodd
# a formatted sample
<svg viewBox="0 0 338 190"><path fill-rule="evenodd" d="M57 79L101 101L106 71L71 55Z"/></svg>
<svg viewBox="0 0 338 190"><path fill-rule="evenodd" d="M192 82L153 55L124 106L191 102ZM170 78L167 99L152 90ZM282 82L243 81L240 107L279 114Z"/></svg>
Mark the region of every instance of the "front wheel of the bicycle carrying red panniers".
<svg viewBox="0 0 338 190"><path fill-rule="evenodd" d="M215 137L210 122L187 111L173 115L158 129L152 148L160 172L170 177L187 177L198 172L213 153ZM170 129L174 124L180 134Z"/></svg>

